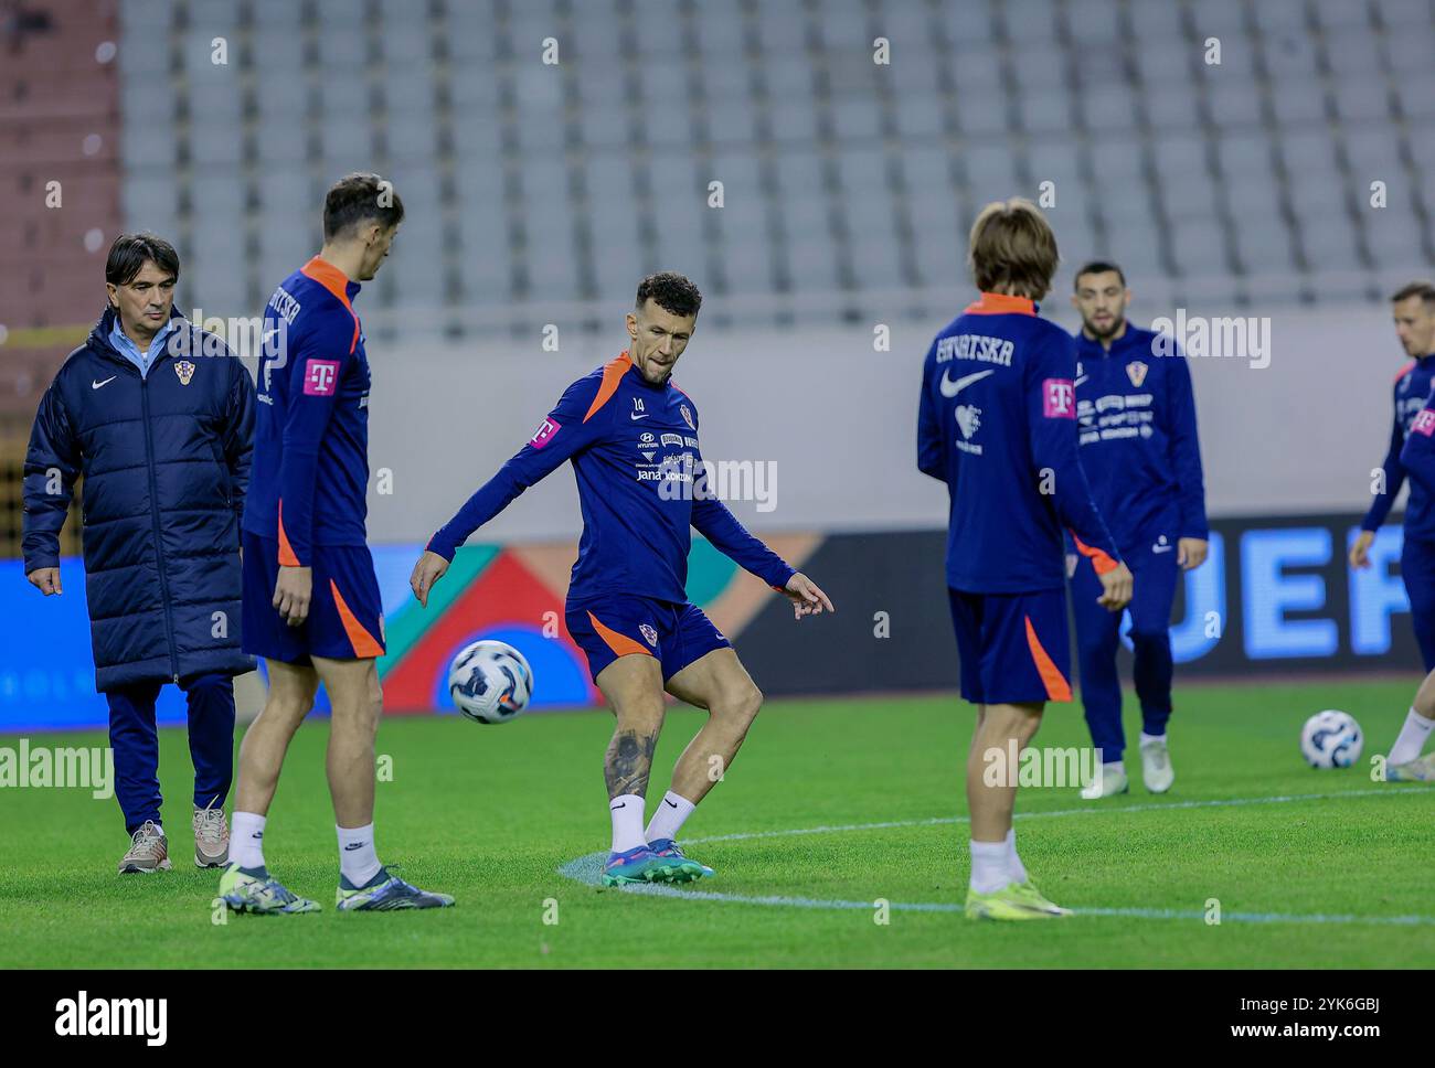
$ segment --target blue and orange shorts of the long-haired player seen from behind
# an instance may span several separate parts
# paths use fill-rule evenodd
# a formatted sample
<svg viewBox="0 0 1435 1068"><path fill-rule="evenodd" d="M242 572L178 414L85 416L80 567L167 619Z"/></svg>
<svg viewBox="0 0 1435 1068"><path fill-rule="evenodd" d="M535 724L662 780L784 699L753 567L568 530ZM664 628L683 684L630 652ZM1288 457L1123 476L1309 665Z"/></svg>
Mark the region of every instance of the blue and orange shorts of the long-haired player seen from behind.
<svg viewBox="0 0 1435 1068"><path fill-rule="evenodd" d="M1071 701L1066 591L966 593L947 589L961 662L961 697L973 704Z"/></svg>

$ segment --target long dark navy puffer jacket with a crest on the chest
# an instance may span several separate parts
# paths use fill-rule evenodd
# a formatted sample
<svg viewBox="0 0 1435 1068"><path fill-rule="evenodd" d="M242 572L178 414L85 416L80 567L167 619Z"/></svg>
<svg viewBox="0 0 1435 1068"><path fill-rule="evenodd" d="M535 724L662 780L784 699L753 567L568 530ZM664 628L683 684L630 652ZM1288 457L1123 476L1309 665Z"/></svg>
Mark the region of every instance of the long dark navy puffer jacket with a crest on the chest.
<svg viewBox="0 0 1435 1068"><path fill-rule="evenodd" d="M175 318L169 344L141 377L110 344L115 313L106 310L55 376L30 433L27 575L59 566L60 526L85 476L99 691L254 667L240 647L254 381L218 337Z"/></svg>

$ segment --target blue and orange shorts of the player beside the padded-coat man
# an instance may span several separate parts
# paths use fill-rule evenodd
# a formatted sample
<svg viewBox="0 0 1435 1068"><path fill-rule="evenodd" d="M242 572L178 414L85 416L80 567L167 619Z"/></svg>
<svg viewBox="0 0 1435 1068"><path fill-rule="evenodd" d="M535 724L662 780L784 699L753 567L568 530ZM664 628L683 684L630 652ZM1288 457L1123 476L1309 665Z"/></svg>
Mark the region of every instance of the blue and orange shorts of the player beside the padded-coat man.
<svg viewBox="0 0 1435 1068"><path fill-rule="evenodd" d="M309 618L290 626L274 608L278 542L244 532L244 651L301 667L310 657L382 657L383 602L367 546L314 546L311 568Z"/></svg>

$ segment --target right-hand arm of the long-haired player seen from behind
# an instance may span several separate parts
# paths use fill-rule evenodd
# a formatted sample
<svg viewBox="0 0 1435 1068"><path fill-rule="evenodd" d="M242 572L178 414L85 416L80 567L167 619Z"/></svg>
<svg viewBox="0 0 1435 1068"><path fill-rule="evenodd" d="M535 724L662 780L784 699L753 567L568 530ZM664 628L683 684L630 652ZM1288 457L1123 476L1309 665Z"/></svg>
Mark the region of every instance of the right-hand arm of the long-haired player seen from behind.
<svg viewBox="0 0 1435 1068"><path fill-rule="evenodd" d="M1091 499L1076 437L1076 350L1065 334L1052 334L1026 366L1026 421L1035 477L1052 493L1056 515L1076 552L1091 559L1101 579L1098 602L1119 611L1131 601L1131 572ZM1048 489L1049 487L1049 489Z"/></svg>

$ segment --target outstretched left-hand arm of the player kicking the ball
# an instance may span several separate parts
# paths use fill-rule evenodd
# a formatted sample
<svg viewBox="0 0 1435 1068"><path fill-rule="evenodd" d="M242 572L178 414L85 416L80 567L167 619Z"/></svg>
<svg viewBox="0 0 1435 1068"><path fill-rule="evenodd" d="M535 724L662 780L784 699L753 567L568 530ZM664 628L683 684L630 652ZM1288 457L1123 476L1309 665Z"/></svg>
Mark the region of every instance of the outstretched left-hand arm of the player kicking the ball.
<svg viewBox="0 0 1435 1068"><path fill-rule="evenodd" d="M498 473L478 487L458 513L429 539L423 555L413 565L409 586L419 604L428 605L429 591L448 571L458 546L484 523L508 507L519 493L542 482L565 460L594 444L611 426L613 404L606 403L603 380L580 378L560 397L528 444L519 449Z"/></svg>

